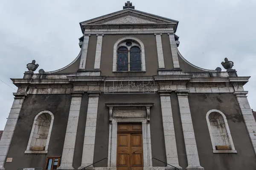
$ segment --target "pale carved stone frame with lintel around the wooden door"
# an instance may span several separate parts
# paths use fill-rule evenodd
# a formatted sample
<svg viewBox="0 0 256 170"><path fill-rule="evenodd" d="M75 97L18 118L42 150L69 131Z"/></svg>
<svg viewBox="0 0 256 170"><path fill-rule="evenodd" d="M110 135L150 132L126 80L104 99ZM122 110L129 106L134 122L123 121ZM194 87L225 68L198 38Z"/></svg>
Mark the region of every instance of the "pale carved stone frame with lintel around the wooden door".
<svg viewBox="0 0 256 170"><path fill-rule="evenodd" d="M117 153L117 124L118 123L142 123L143 137L143 170L149 170L152 167L151 152L151 134L150 134L150 107L153 104L106 104L109 107L109 139L108 139L108 168L116 170L116 153ZM126 112L134 112L133 107L140 107L141 113L138 116L125 116L113 114L113 108L123 108ZM142 109L145 108L145 109ZM145 112L145 114L143 114ZM114 116L113 116L114 115Z"/></svg>

